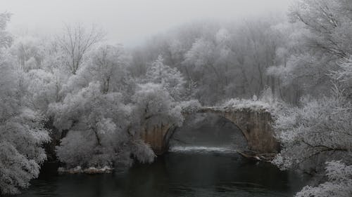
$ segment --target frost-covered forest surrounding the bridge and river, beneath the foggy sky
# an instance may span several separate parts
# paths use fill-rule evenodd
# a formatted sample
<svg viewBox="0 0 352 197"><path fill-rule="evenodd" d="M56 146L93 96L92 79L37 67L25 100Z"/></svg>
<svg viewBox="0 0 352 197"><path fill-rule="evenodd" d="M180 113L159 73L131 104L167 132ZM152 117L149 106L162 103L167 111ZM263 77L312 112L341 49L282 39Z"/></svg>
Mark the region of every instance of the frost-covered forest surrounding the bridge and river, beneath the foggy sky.
<svg viewBox="0 0 352 197"><path fill-rule="evenodd" d="M300 0L288 14L189 22L134 48L99 27L13 36L0 14L0 193L19 193L45 161L64 168L151 163L142 128L184 111L265 102L281 150L272 161L315 178L296 196L352 196L352 1Z"/></svg>

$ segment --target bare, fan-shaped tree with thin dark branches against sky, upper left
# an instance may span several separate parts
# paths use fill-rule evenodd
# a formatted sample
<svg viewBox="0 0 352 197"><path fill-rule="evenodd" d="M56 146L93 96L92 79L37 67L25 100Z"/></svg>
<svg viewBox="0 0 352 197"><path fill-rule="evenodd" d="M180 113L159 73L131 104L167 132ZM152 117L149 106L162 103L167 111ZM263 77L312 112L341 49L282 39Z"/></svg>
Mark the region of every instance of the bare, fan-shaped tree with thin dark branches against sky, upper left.
<svg viewBox="0 0 352 197"><path fill-rule="evenodd" d="M87 30L80 24L75 27L65 25L64 34L63 36L58 36L57 41L63 53L68 57L65 63L72 74L76 74L77 69L82 64L84 54L94 44L103 41L104 37L105 33L100 29L96 29L95 26Z"/></svg>

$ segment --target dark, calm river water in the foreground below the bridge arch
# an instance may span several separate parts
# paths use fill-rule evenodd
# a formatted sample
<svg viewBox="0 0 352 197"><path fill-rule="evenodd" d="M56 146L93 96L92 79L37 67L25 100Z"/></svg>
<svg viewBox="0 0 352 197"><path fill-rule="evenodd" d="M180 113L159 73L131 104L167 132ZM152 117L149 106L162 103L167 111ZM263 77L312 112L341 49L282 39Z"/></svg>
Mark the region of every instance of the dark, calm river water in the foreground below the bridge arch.
<svg viewBox="0 0 352 197"><path fill-rule="evenodd" d="M21 197L278 197L293 196L304 185L293 172L213 149L170 152L154 163L103 175L56 175L46 168L31 184Z"/></svg>

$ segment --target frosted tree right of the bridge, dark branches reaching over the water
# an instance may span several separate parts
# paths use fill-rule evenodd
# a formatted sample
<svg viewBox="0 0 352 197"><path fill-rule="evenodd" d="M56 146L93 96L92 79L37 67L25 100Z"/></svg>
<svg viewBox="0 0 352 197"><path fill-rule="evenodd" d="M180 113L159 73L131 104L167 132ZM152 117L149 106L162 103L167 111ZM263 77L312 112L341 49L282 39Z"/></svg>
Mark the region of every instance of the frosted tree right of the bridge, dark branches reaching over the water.
<svg viewBox="0 0 352 197"><path fill-rule="evenodd" d="M351 100L336 90L334 97L306 98L301 104L277 114L275 129L283 148L274 163L313 174L322 171L325 161L351 163Z"/></svg>

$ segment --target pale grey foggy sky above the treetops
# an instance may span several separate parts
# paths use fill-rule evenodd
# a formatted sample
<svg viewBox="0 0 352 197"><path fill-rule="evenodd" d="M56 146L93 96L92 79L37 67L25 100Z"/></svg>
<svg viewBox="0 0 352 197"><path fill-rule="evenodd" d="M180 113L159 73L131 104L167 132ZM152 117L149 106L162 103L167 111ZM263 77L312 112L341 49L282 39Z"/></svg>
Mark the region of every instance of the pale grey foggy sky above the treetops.
<svg viewBox="0 0 352 197"><path fill-rule="evenodd" d="M287 10L290 0L0 0L13 34L56 34L65 23L96 24L108 41L133 46L196 20L234 20Z"/></svg>

